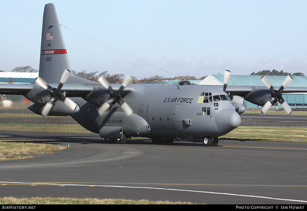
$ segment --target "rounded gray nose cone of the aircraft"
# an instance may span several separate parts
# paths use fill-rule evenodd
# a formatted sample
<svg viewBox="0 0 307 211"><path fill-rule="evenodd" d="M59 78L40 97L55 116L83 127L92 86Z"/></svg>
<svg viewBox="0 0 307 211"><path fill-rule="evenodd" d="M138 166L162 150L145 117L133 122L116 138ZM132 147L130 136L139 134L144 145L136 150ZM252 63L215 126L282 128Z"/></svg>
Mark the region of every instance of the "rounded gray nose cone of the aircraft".
<svg viewBox="0 0 307 211"><path fill-rule="evenodd" d="M241 117L234 109L223 109L215 116L216 126L223 134L227 134L241 124Z"/></svg>

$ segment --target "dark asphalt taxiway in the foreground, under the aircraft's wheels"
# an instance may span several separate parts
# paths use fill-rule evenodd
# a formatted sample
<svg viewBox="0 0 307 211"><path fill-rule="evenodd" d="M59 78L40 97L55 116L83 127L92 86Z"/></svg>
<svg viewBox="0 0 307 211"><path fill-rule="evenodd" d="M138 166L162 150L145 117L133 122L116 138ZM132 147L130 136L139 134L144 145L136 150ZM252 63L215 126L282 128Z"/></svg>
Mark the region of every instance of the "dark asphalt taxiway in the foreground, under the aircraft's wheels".
<svg viewBox="0 0 307 211"><path fill-rule="evenodd" d="M0 197L125 198L207 204L305 204L307 145L220 140L106 144L99 135L0 132L2 141L69 148L1 161Z"/></svg>

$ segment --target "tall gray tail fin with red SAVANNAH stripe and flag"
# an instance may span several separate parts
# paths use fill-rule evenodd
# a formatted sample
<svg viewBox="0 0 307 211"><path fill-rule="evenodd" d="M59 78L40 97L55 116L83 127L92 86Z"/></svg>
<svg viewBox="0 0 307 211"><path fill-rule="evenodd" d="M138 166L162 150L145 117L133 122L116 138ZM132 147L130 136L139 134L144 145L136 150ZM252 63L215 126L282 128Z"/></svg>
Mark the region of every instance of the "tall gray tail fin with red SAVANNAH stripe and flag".
<svg viewBox="0 0 307 211"><path fill-rule="evenodd" d="M71 67L55 6L49 3L43 17L39 76L47 83L59 83L65 69Z"/></svg>

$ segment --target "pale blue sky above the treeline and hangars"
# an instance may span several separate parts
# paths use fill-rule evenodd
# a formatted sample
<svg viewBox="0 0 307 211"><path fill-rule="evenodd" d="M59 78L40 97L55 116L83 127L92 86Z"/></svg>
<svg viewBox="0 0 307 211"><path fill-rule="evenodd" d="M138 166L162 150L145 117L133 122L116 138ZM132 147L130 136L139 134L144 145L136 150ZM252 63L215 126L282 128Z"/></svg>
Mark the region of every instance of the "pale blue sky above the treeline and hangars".
<svg viewBox="0 0 307 211"><path fill-rule="evenodd" d="M225 69L237 75L273 69L307 75L307 1L296 0L2 1L2 71L38 69L46 3L54 3L60 24L167 72L99 44L127 62L62 27L76 71L138 79L151 73L200 78Z"/></svg>

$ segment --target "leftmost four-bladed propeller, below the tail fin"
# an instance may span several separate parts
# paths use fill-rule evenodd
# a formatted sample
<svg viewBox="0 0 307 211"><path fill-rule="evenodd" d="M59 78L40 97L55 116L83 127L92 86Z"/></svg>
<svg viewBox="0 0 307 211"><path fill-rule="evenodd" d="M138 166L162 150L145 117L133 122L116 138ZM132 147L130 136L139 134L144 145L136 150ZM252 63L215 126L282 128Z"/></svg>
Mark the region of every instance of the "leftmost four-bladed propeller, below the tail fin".
<svg viewBox="0 0 307 211"><path fill-rule="evenodd" d="M71 99L66 98L64 94L61 92L62 86L65 84L65 82L67 81L67 79L71 74L72 72L70 70L65 69L60 79L59 86L57 88L52 88L41 77L37 77L37 79L35 79L35 83L44 88L45 90L48 90L51 96L49 98L49 101L46 103L46 105L41 111L42 116L44 117L48 116L49 112L51 111L53 105L57 102L57 100L63 101L64 104L72 111L77 109L78 105L75 102L73 102Z"/></svg>

